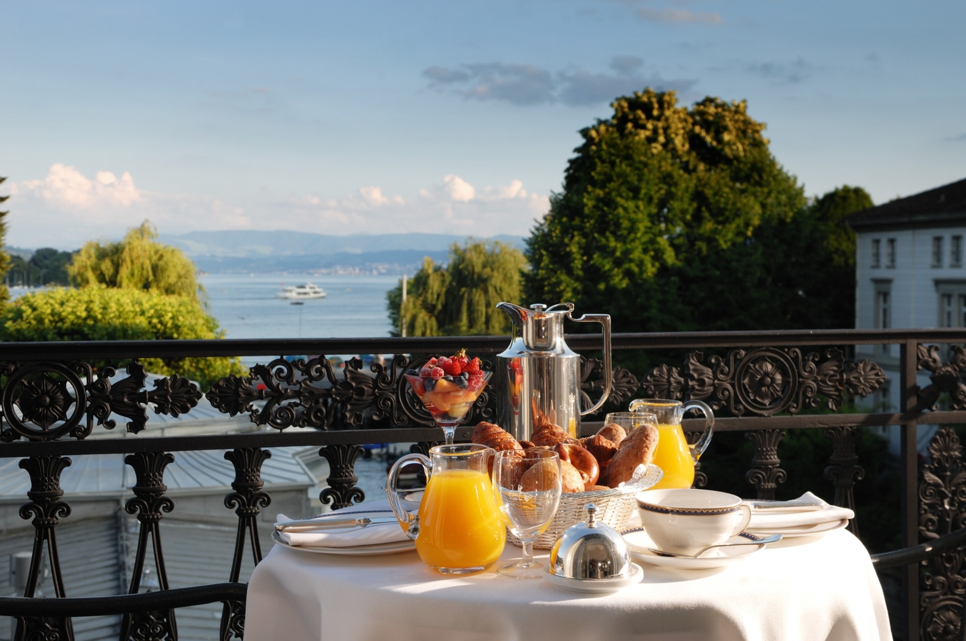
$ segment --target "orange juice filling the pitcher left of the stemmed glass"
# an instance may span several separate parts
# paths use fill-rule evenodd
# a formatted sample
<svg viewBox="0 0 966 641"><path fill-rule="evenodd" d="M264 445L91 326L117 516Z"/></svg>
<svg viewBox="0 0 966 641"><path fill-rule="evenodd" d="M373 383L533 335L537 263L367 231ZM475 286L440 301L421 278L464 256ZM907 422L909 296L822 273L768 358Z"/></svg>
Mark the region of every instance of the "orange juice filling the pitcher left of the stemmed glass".
<svg viewBox="0 0 966 641"><path fill-rule="evenodd" d="M416 551L429 567L459 573L497 562L506 543L490 477L472 469L433 474L419 506Z"/></svg>

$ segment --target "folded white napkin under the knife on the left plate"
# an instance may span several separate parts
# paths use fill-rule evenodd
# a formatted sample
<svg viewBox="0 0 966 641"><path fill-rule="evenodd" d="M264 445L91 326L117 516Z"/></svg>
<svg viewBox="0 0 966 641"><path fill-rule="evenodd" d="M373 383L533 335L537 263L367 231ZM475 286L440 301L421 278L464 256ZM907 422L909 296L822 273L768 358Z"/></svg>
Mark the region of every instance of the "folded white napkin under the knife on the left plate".
<svg viewBox="0 0 966 641"><path fill-rule="evenodd" d="M362 516L392 516L389 501L371 501L361 505L352 505L342 510L336 510L320 520L329 518L361 518ZM277 523L297 520L285 515L275 516ZM365 527L350 527L338 530L320 530L318 532L279 532L278 538L284 543L307 547L354 547L355 545L373 545L376 543L398 543L410 541L402 526L398 522L374 523Z"/></svg>

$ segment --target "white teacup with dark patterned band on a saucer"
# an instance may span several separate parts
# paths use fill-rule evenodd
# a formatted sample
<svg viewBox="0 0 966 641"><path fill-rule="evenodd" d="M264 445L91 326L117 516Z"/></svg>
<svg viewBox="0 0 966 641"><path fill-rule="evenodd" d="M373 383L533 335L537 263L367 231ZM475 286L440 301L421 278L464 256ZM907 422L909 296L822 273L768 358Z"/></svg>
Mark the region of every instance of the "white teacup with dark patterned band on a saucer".
<svg viewBox="0 0 966 641"><path fill-rule="evenodd" d="M678 554L725 543L752 519L752 509L740 497L710 489L648 489L637 498L647 536L660 549Z"/></svg>

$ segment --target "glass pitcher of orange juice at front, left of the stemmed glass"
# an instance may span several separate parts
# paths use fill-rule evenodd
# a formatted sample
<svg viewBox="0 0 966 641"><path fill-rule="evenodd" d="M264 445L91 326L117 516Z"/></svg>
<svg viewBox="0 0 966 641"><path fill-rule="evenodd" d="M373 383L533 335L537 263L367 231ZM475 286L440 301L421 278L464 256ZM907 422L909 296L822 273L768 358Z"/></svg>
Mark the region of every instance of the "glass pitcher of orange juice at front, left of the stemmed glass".
<svg viewBox="0 0 966 641"><path fill-rule="evenodd" d="M496 454L484 445L438 445L429 457L407 454L389 469L386 492L392 512L419 558L444 574L484 571L497 562L506 543L506 526L499 515L490 482L489 461ZM417 514L406 509L399 472L419 462L426 472L426 489Z"/></svg>

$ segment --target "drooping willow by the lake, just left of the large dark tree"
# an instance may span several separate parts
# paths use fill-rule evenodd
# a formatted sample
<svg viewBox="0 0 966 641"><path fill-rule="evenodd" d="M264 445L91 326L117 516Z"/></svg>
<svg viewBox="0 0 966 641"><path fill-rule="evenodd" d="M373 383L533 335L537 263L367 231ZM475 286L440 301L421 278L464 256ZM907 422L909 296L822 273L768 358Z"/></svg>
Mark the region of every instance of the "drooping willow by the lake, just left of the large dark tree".
<svg viewBox="0 0 966 641"><path fill-rule="evenodd" d="M399 336L406 319L407 336L470 336L506 334L509 318L497 303L521 299L521 275L526 259L520 250L499 241L469 240L449 248L449 263L425 258L407 284L386 293L392 336Z"/></svg>

